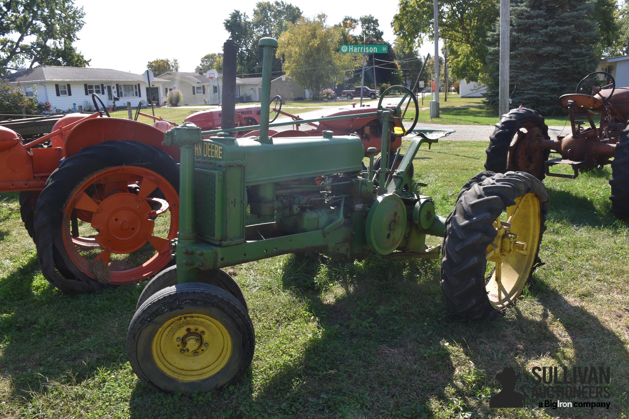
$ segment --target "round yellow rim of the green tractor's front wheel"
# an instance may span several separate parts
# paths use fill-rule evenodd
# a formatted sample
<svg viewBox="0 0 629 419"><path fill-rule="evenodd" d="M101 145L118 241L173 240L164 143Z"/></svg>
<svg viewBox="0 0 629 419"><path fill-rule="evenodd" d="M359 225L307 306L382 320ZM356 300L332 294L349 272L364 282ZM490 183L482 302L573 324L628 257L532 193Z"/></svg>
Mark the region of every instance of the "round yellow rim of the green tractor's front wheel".
<svg viewBox="0 0 629 419"><path fill-rule="evenodd" d="M231 356L223 323L203 314L175 316L159 327L151 351L155 364L178 381L200 381L217 374Z"/></svg>

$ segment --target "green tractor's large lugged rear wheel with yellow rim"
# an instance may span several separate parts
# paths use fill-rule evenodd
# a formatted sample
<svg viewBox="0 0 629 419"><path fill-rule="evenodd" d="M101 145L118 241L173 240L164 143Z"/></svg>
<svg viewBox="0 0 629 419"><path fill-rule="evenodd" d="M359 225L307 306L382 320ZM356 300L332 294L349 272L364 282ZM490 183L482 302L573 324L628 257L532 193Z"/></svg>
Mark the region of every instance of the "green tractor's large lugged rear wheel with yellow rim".
<svg viewBox="0 0 629 419"><path fill-rule="evenodd" d="M515 304L539 262L547 213L546 189L530 174L482 172L467 182L445 222L441 284L448 310L495 318Z"/></svg>

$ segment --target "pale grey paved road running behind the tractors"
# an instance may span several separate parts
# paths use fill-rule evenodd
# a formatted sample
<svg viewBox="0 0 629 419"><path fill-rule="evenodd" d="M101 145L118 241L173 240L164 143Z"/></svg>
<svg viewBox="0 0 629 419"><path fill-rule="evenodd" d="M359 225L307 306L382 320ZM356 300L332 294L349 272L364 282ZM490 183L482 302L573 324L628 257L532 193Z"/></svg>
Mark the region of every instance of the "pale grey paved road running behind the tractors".
<svg viewBox="0 0 629 419"><path fill-rule="evenodd" d="M369 105L372 108L376 108L378 101L363 101L364 104ZM347 104L339 104L338 106L324 106L323 109L317 111L306 111L304 108L303 113L298 115L304 119L321 118L324 113L335 108L345 108ZM276 122L290 121L291 119L286 116L277 118ZM404 122L404 125L410 126L409 123ZM445 125L445 124L431 124L431 123L418 123L417 128L435 129L435 130L455 130L455 133L450 134L448 140L472 140L472 141L489 141L489 135L494 132L496 128L494 125ZM291 130L292 126L278 127L277 131ZM549 126L548 135L550 138L557 138L560 133L570 133L570 127L566 126Z"/></svg>

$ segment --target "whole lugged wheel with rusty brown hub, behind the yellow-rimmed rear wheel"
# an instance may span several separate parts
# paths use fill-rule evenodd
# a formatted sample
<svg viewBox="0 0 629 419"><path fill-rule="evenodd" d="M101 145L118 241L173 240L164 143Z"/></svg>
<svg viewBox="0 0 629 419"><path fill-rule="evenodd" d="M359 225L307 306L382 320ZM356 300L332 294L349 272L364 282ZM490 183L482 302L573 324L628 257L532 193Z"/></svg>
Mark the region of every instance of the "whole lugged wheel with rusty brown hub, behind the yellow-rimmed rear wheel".
<svg viewBox="0 0 629 419"><path fill-rule="evenodd" d="M544 162L548 160L550 150L536 148L533 138L527 137L533 128L539 128L543 137L550 140L544 117L537 111L516 108L504 114L489 136L485 169L496 173L527 172L542 181L546 176Z"/></svg>

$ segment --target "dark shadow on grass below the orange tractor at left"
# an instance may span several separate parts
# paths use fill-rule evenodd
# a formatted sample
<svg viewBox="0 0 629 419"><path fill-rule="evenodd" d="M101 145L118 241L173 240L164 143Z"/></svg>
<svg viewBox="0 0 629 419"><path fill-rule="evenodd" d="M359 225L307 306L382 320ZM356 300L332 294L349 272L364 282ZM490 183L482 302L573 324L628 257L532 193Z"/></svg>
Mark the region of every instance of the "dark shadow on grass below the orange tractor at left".
<svg viewBox="0 0 629 419"><path fill-rule="evenodd" d="M0 277L0 376L12 399L74 386L121 369L125 335L142 286L65 295L42 278L35 254Z"/></svg>

